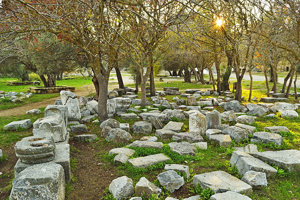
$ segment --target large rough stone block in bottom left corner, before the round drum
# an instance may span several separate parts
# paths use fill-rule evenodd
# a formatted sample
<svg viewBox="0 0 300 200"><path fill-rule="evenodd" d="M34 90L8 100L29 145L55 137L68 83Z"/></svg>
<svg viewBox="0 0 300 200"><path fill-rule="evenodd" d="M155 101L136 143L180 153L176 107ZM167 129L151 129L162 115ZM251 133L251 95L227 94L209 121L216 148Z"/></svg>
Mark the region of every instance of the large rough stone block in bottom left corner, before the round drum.
<svg viewBox="0 0 300 200"><path fill-rule="evenodd" d="M10 199L64 199L64 169L54 162L32 165L13 180Z"/></svg>

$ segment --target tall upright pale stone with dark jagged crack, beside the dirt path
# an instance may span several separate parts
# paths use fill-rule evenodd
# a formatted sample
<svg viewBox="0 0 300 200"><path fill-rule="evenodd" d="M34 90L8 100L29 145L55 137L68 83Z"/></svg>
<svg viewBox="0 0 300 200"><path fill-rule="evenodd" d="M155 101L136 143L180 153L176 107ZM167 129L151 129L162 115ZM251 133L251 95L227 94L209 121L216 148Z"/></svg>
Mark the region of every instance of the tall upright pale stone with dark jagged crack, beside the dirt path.
<svg viewBox="0 0 300 200"><path fill-rule="evenodd" d="M62 105L68 107L68 117L79 119L81 117L77 96L69 90L60 91Z"/></svg>

